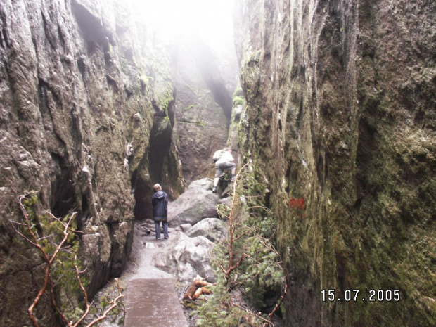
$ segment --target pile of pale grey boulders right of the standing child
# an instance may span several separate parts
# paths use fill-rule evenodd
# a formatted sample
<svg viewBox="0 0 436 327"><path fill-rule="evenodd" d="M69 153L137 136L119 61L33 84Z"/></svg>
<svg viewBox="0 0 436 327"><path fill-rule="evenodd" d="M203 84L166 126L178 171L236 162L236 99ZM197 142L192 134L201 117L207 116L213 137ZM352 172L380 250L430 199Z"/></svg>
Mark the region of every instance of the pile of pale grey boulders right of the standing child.
<svg viewBox="0 0 436 327"><path fill-rule="evenodd" d="M164 255L153 258L155 266L191 283L197 275L214 282L210 250L227 237L226 223L218 218L218 197L212 193L213 181L193 181L168 208L169 226L181 231L180 238Z"/></svg>

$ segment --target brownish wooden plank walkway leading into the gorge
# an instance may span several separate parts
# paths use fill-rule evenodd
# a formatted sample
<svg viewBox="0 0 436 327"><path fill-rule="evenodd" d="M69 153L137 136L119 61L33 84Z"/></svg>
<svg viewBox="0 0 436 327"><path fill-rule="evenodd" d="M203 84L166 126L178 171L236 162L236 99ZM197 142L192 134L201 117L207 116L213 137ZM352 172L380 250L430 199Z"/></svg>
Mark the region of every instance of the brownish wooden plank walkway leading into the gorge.
<svg viewBox="0 0 436 327"><path fill-rule="evenodd" d="M169 278L132 279L127 286L124 327L188 327Z"/></svg>

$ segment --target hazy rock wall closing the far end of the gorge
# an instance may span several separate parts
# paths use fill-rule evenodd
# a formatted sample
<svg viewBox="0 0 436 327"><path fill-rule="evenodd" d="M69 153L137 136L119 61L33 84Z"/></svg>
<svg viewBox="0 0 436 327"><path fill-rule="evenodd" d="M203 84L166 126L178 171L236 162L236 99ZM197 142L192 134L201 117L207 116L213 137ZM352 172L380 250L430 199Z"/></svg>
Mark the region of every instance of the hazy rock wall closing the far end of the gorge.
<svg viewBox="0 0 436 327"><path fill-rule="evenodd" d="M226 146L238 62L229 35L215 39L186 35L177 42L174 84L177 132L184 178L214 177L213 153Z"/></svg>

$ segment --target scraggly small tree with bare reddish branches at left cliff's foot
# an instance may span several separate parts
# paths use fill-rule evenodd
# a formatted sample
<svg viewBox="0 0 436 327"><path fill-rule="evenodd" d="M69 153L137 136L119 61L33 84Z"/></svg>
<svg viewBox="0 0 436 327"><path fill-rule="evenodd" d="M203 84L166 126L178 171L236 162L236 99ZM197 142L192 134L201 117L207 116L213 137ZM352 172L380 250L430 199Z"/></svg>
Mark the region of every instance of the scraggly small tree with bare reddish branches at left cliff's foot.
<svg viewBox="0 0 436 327"><path fill-rule="evenodd" d="M79 250L79 238L77 233L76 213L68 214L60 219L51 212L41 213L39 200L36 192L20 195L18 198L20 210L23 213L22 222L13 222L13 229L27 243L36 248L44 262L41 271L41 278L44 280L37 296L27 309L30 320L34 327L39 327L39 321L35 314L37 304L43 296L49 295L54 309L68 327L94 326L99 321L105 319L108 314L120 305L122 288L117 286L117 295L110 300L108 306L98 316L93 316L91 321L87 321L87 316L92 308L92 302L88 301L86 286L88 281L84 280L82 274L82 264L77 259ZM80 292L84 298L84 303L75 306L70 301L61 301L58 294L62 291L65 294ZM86 323L84 323L86 321Z"/></svg>

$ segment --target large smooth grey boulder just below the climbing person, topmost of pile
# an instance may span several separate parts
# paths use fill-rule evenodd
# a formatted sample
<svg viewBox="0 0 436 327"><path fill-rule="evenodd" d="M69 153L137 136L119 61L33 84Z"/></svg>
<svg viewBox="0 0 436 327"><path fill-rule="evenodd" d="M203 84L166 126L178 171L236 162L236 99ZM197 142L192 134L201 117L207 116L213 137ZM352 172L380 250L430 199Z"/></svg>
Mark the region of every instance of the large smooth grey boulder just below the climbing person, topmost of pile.
<svg viewBox="0 0 436 327"><path fill-rule="evenodd" d="M206 189L207 181L194 181L168 208L169 226L195 225L202 219L218 217L218 197Z"/></svg>

